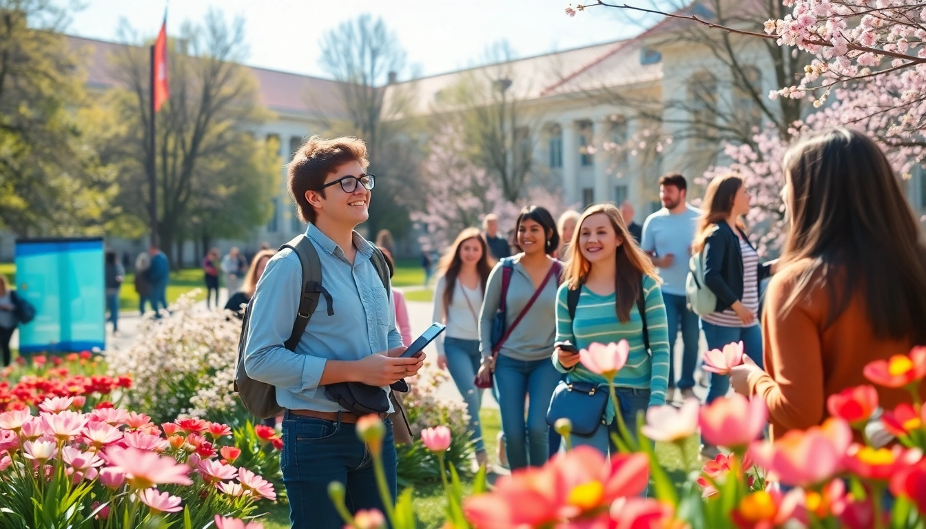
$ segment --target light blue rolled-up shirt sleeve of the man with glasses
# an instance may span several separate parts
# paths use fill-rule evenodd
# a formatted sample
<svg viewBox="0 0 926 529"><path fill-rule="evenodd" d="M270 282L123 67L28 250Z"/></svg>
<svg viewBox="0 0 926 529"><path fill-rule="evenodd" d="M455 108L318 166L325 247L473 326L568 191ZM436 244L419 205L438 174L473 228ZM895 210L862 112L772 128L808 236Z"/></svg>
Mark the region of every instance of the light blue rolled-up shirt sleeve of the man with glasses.
<svg viewBox="0 0 926 529"><path fill-rule="evenodd" d="M293 333L302 293L302 268L283 250L270 259L251 301L244 345L244 371L254 380L299 393L319 386L326 359L297 354L283 344ZM393 317L393 331L395 322ZM397 343L402 337L394 331ZM393 340L390 332L390 343Z"/></svg>

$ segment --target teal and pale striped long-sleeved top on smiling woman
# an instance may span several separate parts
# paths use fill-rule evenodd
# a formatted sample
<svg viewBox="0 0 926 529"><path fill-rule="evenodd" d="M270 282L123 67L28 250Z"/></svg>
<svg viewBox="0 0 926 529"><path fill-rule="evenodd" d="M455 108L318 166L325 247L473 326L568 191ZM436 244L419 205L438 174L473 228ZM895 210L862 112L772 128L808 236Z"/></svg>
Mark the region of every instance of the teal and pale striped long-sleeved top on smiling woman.
<svg viewBox="0 0 926 529"><path fill-rule="evenodd" d="M626 339L630 345L627 363L614 379L619 387L650 390L649 405L666 403L666 388L669 385L669 325L666 320L666 306L662 302L662 290L656 280L645 276L644 301L646 306L646 328L649 332L650 353L643 341L643 321L640 311L633 304L631 319L626 323L618 321L615 312L615 295L598 296L585 286L579 296L575 321L569 319L569 285L563 284L557 292L557 342L569 340L580 349L594 342L609 344ZM559 372L567 372L559 364L556 355L553 364ZM573 380L597 382L607 385L599 374L588 371L581 363L569 371ZM608 404L606 421L614 418L614 409Z"/></svg>

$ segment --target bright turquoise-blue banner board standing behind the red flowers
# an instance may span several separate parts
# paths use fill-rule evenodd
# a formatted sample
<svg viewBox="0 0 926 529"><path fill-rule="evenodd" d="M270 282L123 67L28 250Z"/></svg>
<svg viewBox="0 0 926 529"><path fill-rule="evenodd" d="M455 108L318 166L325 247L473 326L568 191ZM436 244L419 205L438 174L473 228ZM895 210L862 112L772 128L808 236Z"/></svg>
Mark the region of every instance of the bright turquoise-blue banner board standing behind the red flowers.
<svg viewBox="0 0 926 529"><path fill-rule="evenodd" d="M19 326L19 352L106 348L101 237L17 239L16 286L35 306Z"/></svg>

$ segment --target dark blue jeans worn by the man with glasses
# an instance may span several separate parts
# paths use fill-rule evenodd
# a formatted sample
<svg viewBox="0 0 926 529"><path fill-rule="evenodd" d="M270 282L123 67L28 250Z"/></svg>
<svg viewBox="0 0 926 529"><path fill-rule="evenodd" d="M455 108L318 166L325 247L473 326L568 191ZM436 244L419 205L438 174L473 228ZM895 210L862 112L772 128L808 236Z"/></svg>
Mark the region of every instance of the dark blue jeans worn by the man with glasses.
<svg viewBox="0 0 926 529"><path fill-rule="evenodd" d="M382 466L394 500L393 426L389 421L385 423ZM328 485L332 481L344 485L344 503L352 513L361 509L385 512L376 485L373 459L366 445L357 438L354 424L303 417L287 409L283 414L282 435L280 468L289 497L293 529L341 529L344 526L328 498Z"/></svg>

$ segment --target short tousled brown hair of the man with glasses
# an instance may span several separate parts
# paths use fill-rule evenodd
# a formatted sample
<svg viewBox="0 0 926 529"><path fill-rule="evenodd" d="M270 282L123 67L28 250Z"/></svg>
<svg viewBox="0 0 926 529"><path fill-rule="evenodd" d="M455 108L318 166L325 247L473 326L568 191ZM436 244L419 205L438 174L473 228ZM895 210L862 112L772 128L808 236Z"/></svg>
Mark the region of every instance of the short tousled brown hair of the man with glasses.
<svg viewBox="0 0 926 529"><path fill-rule="evenodd" d="M299 220L314 223L316 220L315 208L308 203L307 191L319 191L328 175L345 163L357 161L364 170L367 169L367 144L360 139L349 136L323 140L319 136L312 136L306 143L300 145L289 163L289 192L293 195L296 207L299 209Z"/></svg>

